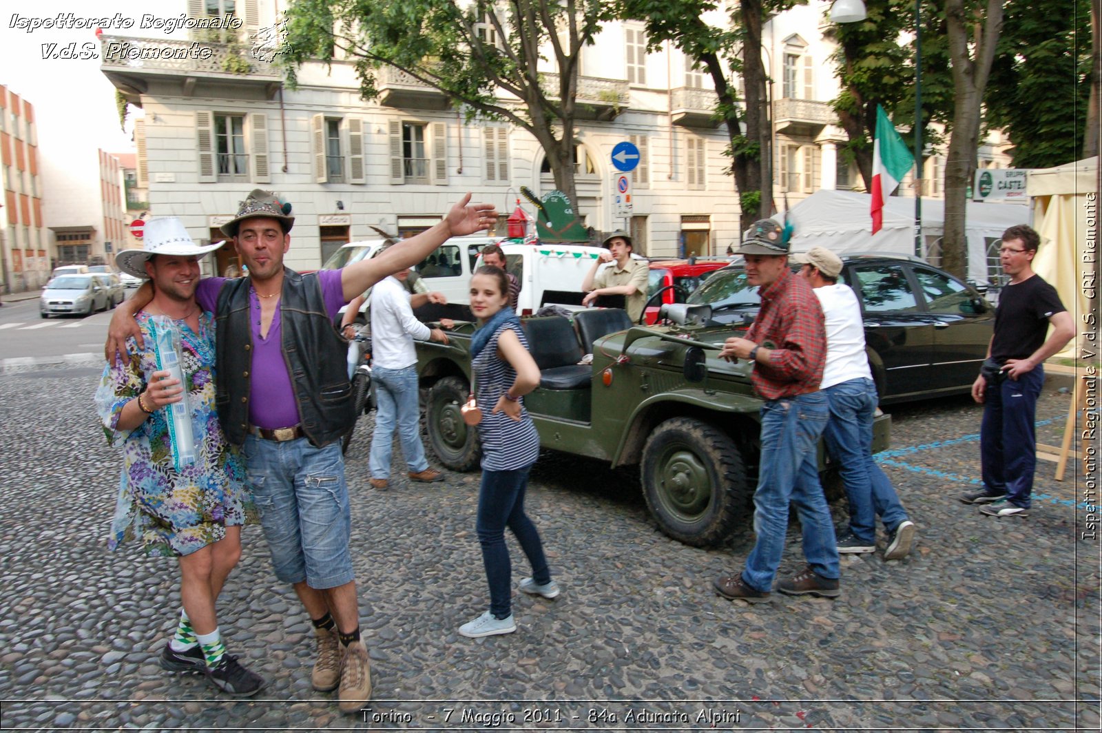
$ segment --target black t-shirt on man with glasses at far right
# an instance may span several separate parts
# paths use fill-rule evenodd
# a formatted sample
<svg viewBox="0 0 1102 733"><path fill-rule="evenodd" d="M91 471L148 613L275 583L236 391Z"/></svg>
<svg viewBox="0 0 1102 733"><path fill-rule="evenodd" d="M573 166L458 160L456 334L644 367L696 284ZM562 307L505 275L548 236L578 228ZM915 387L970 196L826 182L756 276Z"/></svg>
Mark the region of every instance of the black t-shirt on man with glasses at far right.
<svg viewBox="0 0 1102 733"><path fill-rule="evenodd" d="M998 363L1028 357L1045 343L1049 317L1066 310L1056 288L1039 274L1006 285L998 294L998 308L995 309L991 357Z"/></svg>

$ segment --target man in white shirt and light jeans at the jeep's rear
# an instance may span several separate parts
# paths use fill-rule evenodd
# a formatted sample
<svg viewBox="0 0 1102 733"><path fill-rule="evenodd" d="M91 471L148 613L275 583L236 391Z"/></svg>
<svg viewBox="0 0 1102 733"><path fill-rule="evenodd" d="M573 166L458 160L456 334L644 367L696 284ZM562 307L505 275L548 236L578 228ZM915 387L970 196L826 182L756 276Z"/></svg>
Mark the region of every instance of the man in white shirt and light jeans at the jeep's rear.
<svg viewBox="0 0 1102 733"><path fill-rule="evenodd" d="M378 411L368 465L371 486L380 491L387 488L390 481L396 423L410 481L444 478L440 471L429 467L421 443L413 341L432 339L446 344L447 335L413 317L413 308L425 302L444 303L446 300L437 292L410 295L404 284L408 277L409 270L403 270L377 282L371 289L371 379Z"/></svg>

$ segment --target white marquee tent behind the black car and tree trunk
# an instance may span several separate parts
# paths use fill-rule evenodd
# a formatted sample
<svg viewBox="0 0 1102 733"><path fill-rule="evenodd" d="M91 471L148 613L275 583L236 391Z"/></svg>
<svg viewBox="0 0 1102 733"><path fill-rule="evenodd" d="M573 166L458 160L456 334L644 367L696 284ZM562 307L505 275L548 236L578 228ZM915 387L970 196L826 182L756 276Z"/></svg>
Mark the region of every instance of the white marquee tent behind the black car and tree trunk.
<svg viewBox="0 0 1102 733"><path fill-rule="evenodd" d="M915 254L915 200L890 196L884 205L884 228L872 234L871 196L851 191L817 191L792 206L789 217L795 226L792 251L827 247L835 252ZM987 282L987 245L1001 239L1015 224L1029 222L1029 207L1023 204L968 204L968 277ZM774 216L784 220L782 214ZM922 256L930 258L940 249L944 234L944 202L922 200ZM937 263L937 257L932 257Z"/></svg>

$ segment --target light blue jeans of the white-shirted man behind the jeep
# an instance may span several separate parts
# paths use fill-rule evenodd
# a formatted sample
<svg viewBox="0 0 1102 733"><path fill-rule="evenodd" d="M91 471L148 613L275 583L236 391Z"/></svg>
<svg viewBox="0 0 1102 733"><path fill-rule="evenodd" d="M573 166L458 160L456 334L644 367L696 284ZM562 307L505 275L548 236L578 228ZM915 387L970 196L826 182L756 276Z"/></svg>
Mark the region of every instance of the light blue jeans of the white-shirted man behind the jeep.
<svg viewBox="0 0 1102 733"><path fill-rule="evenodd" d="M402 455L411 473L429 467L421 443L421 410L418 407L417 365L404 369L371 369L375 395L379 401L375 414L375 434L368 467L371 478L390 477L390 451L395 444L395 422L402 443Z"/></svg>

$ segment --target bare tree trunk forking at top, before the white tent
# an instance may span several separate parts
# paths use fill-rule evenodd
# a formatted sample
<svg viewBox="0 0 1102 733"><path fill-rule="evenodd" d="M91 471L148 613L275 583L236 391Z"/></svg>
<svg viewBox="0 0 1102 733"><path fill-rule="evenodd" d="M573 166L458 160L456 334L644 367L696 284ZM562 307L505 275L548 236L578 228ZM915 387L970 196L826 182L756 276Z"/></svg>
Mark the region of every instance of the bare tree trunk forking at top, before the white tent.
<svg viewBox="0 0 1102 733"><path fill-rule="evenodd" d="M955 107L946 163L941 266L964 279L968 276L968 241L964 237L968 184L975 171L975 154L980 147L980 106L995 57L995 44L1003 28L1002 0L987 0L982 17L965 15L963 0L946 0L946 25ZM969 31L973 29L975 39L969 37ZM974 58L970 48L974 48Z"/></svg>

